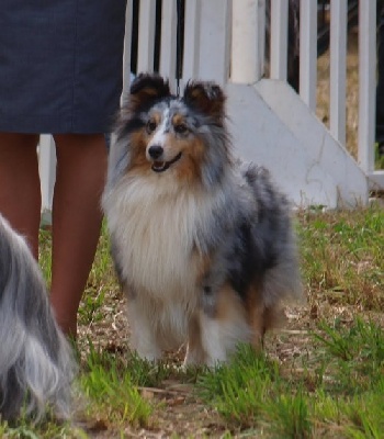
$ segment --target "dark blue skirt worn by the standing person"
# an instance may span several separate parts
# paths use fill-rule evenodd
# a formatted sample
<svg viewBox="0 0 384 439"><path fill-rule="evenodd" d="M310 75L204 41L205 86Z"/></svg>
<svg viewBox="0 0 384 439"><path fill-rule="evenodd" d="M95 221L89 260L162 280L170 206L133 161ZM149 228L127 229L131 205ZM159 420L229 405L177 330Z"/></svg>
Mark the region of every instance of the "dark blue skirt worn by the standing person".
<svg viewBox="0 0 384 439"><path fill-rule="evenodd" d="M0 132L105 133L126 0L0 0Z"/></svg>

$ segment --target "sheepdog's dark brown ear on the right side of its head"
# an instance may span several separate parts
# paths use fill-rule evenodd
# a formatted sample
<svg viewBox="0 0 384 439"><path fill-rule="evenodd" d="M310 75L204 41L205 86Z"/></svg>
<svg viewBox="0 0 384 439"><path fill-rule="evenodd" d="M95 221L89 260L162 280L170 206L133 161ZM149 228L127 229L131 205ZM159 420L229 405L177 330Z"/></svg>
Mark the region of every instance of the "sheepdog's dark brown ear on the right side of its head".
<svg viewBox="0 0 384 439"><path fill-rule="evenodd" d="M214 82L189 82L184 89L184 102L194 110L210 115L222 123L225 94Z"/></svg>

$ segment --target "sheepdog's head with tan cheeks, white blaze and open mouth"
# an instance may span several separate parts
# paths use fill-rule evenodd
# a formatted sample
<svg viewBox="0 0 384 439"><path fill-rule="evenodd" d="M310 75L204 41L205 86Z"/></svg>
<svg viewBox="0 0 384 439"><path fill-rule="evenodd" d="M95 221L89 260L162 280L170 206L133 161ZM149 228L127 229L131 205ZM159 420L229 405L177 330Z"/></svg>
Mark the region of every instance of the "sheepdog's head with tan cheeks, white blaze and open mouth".
<svg viewBox="0 0 384 439"><path fill-rule="evenodd" d="M160 76L139 75L117 125L117 140L129 147L128 170L214 183L229 160L224 104L213 82L189 82L178 98Z"/></svg>

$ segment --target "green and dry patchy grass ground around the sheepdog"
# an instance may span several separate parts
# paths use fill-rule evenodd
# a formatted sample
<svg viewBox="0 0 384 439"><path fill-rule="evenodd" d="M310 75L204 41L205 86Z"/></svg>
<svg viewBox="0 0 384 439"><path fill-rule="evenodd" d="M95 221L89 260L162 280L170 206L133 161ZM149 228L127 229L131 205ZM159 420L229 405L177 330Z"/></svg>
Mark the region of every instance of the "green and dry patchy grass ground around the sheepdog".
<svg viewBox="0 0 384 439"><path fill-rule="evenodd" d="M4 438L384 437L384 210L296 215L306 303L215 371L128 351L125 301L103 230L79 318L72 424L0 424ZM50 234L41 234L49 279Z"/></svg>

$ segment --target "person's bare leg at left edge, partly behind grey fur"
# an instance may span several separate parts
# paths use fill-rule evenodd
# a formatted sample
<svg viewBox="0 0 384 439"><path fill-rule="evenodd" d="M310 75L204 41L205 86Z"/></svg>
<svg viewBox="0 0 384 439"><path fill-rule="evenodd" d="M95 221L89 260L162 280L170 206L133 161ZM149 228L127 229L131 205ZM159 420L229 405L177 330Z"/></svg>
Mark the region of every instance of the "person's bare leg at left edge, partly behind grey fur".
<svg viewBox="0 0 384 439"><path fill-rule="evenodd" d="M36 134L0 133L0 213L25 236L36 259L42 205L37 143Z"/></svg>

